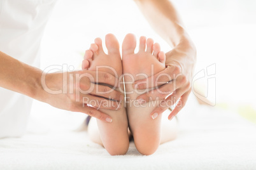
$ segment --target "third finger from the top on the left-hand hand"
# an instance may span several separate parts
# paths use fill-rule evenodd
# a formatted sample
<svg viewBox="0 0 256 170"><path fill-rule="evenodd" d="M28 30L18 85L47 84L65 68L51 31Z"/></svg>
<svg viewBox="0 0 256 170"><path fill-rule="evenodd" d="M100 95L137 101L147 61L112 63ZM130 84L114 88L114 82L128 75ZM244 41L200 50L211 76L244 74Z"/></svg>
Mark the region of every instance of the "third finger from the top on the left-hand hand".
<svg viewBox="0 0 256 170"><path fill-rule="evenodd" d="M82 97L83 105L87 105L93 108L105 108L108 110L119 110L122 107L122 103L113 100L106 100L104 98L93 96L93 95L85 95Z"/></svg>

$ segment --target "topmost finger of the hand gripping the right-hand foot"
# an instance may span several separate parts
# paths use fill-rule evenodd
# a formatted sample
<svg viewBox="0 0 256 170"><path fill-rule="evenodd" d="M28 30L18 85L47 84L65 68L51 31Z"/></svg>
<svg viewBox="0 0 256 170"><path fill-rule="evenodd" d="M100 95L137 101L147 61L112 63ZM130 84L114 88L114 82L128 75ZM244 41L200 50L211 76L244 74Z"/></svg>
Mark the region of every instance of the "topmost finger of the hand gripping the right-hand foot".
<svg viewBox="0 0 256 170"><path fill-rule="evenodd" d="M134 89L154 88L162 84L166 84L173 79L176 79L181 75L180 72L180 67L177 67L176 65L168 65L166 69L162 70L162 72L152 75L152 77L135 81L133 86Z"/></svg>

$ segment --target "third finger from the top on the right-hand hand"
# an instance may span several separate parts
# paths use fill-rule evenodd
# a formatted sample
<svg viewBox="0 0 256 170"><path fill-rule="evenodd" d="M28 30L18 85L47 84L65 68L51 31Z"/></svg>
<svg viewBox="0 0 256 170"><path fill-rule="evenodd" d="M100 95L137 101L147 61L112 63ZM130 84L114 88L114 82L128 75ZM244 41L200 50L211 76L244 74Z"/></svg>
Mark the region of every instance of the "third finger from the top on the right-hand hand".
<svg viewBox="0 0 256 170"><path fill-rule="evenodd" d="M152 117L152 119L155 119L158 115L162 114L164 111L167 110L167 108L173 106L182 94L183 93L181 93L181 89L177 89L173 92L172 95L168 96L166 100L161 100L159 106L155 108L150 114L150 117Z"/></svg>

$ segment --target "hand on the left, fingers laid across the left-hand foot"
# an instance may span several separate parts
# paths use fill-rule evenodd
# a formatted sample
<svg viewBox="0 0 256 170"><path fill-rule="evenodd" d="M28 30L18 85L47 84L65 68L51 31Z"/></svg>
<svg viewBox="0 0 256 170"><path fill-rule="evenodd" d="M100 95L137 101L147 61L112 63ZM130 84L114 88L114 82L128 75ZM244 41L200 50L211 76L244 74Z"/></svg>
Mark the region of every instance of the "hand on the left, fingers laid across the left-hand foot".
<svg viewBox="0 0 256 170"><path fill-rule="evenodd" d="M110 88L110 86L117 87L117 82L117 77L111 74L89 70L43 74L41 77L43 95L38 96L43 96L39 100L53 107L82 112L101 121L111 122L111 117L98 109L121 108L120 100L124 95Z"/></svg>

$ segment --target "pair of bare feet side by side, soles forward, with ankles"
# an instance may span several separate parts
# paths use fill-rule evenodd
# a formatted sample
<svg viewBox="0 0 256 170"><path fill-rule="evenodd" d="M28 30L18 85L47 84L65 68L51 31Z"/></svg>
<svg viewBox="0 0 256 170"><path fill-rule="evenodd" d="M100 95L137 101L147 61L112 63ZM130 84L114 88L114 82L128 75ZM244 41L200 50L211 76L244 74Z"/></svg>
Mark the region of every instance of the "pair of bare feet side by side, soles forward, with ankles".
<svg viewBox="0 0 256 170"><path fill-rule="evenodd" d="M106 36L106 47L108 55L103 51L101 39L97 38L95 44L85 51L82 67L96 70L97 66L111 66L113 70L117 70L119 77L124 74L126 110L124 105L117 111L99 109L111 115L113 122L106 124L97 121L96 126L96 121L92 119L88 127L89 136L92 141L103 145L111 155L123 155L128 150L129 136L132 135L136 148L141 154L153 154L160 143L176 138L176 122L165 121L161 124L161 115L155 120L151 119L150 113L157 105L154 105L153 101L142 105L136 103L139 93L132 87L132 83L164 70L166 56L164 52L160 51L158 43L153 44L152 39L146 41L146 37L140 38L139 51L134 53L136 37L132 34L125 36L122 45L122 62L119 44L113 34ZM153 70L152 65L154 66ZM113 74L110 69L104 68L101 71ZM141 74L145 75L141 77ZM141 93L144 92L141 91Z"/></svg>

